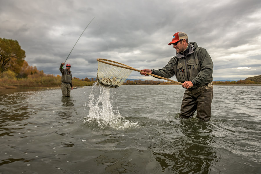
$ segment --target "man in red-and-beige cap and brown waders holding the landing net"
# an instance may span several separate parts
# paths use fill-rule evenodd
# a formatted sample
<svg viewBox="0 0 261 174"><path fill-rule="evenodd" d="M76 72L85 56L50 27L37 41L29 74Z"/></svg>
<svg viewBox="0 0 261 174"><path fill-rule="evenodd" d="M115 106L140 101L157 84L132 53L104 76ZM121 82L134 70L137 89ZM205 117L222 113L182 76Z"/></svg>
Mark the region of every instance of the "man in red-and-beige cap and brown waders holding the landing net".
<svg viewBox="0 0 261 174"><path fill-rule="evenodd" d="M213 62L206 49L198 47L196 42L190 42L188 35L177 32L172 41L176 49L176 56L159 70L144 69L142 75L147 73L171 78L176 75L177 81L186 88L181 104L180 117L193 117L197 110L197 118L209 120L211 116L211 102L213 99Z"/></svg>

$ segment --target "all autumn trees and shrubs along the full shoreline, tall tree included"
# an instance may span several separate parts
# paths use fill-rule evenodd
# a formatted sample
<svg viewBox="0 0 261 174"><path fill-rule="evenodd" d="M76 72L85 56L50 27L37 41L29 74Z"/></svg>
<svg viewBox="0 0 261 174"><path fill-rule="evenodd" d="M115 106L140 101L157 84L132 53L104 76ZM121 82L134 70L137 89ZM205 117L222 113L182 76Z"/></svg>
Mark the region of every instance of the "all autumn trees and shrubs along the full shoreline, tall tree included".
<svg viewBox="0 0 261 174"><path fill-rule="evenodd" d="M26 54L17 40L0 37L0 89L60 87L61 76L44 74L36 66L29 66ZM57 65L57 69L58 69ZM92 86L96 79L73 77L73 87ZM261 75L239 81L213 81L214 85L261 85ZM178 85L170 81L127 80L122 85Z"/></svg>

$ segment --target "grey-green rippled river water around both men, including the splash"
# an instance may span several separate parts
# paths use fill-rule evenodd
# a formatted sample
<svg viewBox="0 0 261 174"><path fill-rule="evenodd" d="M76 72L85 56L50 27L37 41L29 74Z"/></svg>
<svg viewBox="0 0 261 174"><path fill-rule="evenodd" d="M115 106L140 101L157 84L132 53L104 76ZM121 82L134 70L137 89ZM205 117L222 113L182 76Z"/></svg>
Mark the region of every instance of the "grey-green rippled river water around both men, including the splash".
<svg viewBox="0 0 261 174"><path fill-rule="evenodd" d="M0 174L260 173L260 92L214 86L204 122L176 85L0 90Z"/></svg>

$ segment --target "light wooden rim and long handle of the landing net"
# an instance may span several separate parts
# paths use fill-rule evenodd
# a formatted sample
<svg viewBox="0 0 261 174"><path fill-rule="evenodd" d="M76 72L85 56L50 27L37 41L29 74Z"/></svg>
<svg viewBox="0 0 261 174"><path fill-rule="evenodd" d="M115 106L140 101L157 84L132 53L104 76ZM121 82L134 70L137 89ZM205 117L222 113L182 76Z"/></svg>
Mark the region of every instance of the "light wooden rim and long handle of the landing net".
<svg viewBox="0 0 261 174"><path fill-rule="evenodd" d="M108 60L108 59L97 59L97 61L99 62L102 62L104 64L109 64L109 65L112 65L112 66L117 66L117 67L120 67L120 68L125 68L125 69L129 69L129 70L133 70L133 71L138 71L138 72L144 72L144 71L141 71L141 70L138 70L138 69L135 69L135 68L132 68L131 66L128 66L128 65L124 65L124 64L121 64L119 62L116 62L116 61L112 61L112 60ZM109 62L108 62L109 61ZM116 63L116 64L113 64L113 63L110 63L110 62L113 62L113 63ZM120 65L118 65L120 64ZM123 65L123 66L121 66ZM179 85L182 85L183 83L180 83L180 82L177 82L177 81L174 81L174 80L171 80L171 79L167 79L165 77L161 77L161 76L158 76L158 75L155 75L155 74L151 74L151 73L147 73L147 75L151 75L153 77L157 77L157 78L160 78L160 79L164 79L164 80L167 80L167 81L171 81L175 84L179 84Z"/></svg>

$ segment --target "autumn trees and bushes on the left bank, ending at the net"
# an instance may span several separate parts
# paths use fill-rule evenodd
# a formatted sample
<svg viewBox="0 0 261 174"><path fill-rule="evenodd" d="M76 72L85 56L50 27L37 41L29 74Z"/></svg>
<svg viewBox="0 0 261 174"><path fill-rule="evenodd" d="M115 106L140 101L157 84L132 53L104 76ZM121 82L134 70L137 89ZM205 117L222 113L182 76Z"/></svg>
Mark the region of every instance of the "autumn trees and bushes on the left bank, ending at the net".
<svg viewBox="0 0 261 174"><path fill-rule="evenodd" d="M25 57L17 40L0 37L0 88L60 86L60 75L45 74L36 66L29 66ZM95 80L73 77L73 85L90 86Z"/></svg>

